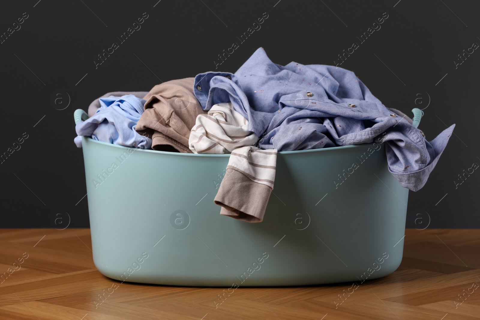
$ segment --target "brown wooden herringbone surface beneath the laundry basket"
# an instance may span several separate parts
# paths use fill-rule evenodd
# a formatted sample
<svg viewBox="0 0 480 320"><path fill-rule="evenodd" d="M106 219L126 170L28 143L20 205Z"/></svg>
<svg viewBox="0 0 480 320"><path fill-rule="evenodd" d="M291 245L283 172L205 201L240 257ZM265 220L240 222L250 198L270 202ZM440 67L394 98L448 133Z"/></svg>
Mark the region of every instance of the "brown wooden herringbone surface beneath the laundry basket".
<svg viewBox="0 0 480 320"><path fill-rule="evenodd" d="M0 319L480 319L480 230L407 229L404 240L396 272L360 284L342 304L350 283L240 287L216 308L222 288L103 276L89 229L0 229L0 273L8 274L0 280Z"/></svg>

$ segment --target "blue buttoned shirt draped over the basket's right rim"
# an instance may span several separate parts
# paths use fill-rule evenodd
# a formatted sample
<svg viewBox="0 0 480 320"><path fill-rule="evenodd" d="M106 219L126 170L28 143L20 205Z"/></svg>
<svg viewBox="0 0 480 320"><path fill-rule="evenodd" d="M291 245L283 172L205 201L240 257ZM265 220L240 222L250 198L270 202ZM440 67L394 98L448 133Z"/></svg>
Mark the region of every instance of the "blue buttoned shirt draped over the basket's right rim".
<svg viewBox="0 0 480 320"><path fill-rule="evenodd" d="M455 125L432 142L386 108L352 71L327 65L273 63L263 48L235 72L206 72L193 91L204 110L231 102L260 136L258 146L278 151L386 142L390 172L402 186L422 188Z"/></svg>

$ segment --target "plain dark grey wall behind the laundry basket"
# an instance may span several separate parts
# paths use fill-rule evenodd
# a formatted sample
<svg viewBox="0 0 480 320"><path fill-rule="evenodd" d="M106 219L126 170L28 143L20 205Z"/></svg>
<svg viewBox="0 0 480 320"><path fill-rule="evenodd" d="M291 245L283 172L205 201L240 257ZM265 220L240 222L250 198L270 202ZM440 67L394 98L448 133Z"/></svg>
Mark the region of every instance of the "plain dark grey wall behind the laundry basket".
<svg viewBox="0 0 480 320"><path fill-rule="evenodd" d="M480 44L478 1L37 1L10 1L0 11L0 33L18 29L0 44L0 154L28 135L0 164L0 227L49 227L56 213L68 213L71 227L87 227L73 111L109 91L148 91L159 79L214 70L217 55L266 12L261 29L218 70L236 71L258 47L279 64L334 64L359 43L341 67L355 71L385 106L410 114L420 98L429 140L456 123L426 186L410 191L407 227L480 228L480 173L454 183L480 164L480 51L456 65L457 55ZM97 55L144 12L141 29L96 66ZM384 12L381 29L360 43Z"/></svg>

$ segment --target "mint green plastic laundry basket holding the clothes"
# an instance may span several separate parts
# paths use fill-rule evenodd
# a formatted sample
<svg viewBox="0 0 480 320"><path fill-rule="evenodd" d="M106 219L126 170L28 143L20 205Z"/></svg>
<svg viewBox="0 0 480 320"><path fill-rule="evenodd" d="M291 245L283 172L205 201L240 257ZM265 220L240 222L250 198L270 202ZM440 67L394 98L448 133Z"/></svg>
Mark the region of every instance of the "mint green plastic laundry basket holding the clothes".
<svg viewBox="0 0 480 320"><path fill-rule="evenodd" d="M83 110L75 111L78 122ZM264 221L220 215L229 154L82 138L93 260L128 282L284 286L379 278L400 265L408 189L384 144L279 152ZM356 164L354 166L353 164Z"/></svg>

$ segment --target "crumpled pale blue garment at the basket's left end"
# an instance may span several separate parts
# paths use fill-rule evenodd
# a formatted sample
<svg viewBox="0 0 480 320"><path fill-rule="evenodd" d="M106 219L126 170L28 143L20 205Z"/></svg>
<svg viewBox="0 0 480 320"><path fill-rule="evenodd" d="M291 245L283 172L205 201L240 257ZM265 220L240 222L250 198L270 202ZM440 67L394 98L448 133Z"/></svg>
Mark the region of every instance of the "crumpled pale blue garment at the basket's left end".
<svg viewBox="0 0 480 320"><path fill-rule="evenodd" d="M134 95L121 97L110 95L107 98L100 98L101 106L96 113L75 126L78 134L74 140L75 144L81 148L81 136L91 136L98 141L151 149L152 140L135 131L137 122L144 113L145 102L146 100Z"/></svg>

